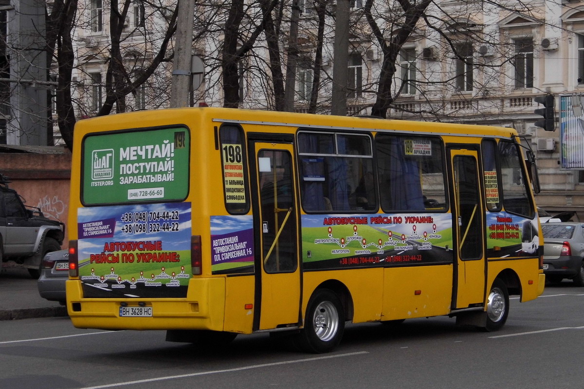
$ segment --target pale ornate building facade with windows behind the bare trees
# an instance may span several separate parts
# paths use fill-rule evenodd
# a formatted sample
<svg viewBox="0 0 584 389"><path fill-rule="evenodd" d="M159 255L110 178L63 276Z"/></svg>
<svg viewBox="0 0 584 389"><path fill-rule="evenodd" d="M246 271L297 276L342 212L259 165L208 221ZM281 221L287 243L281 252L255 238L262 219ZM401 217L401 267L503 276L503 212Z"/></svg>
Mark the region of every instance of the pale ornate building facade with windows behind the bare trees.
<svg viewBox="0 0 584 389"><path fill-rule="evenodd" d="M332 75L335 26L331 16L326 16L319 36L319 12L314 8L317 2L294 4L301 11L294 40L297 53L294 109L310 110L312 87L318 79L316 112L328 114L332 83L338 82ZM175 5L168 2L163 11L152 9L150 3L141 0L131 2L122 34L123 58L130 64L128 77L138 76L156 55ZM364 5L359 0L350 3L344 81L349 115L370 113L387 56L387 50L384 52L369 29ZM576 211L584 217L584 171L561 167L559 121L555 121L555 131L544 131L534 125L541 120L534 113L541 108L536 97L552 94L558 115L561 94L584 93L584 2L536 0L516 10L510 10L509 5L504 1L500 5L448 0L431 3L425 10L425 19L419 20L397 55L388 118L516 128L537 156L543 188L537 196L538 205L551 213ZM389 43L403 29L398 23L401 17L398 3L379 3L374 8L374 18L383 26L383 35ZM206 73L199 89L193 92L193 106L223 106L220 59L227 28L226 12L195 10L193 54L203 58ZM245 25L258 20L257 15L253 16L253 12L259 12L258 7L251 4L245 12L248 18ZM111 38L109 3L81 0L78 18L74 33L77 64L72 85L78 118L83 118L98 113L105 99ZM201 32L204 25L201 20L207 26L217 26L217 30L209 27L207 34ZM291 30L286 23L282 27L284 31ZM240 47L244 43L240 41ZM289 47L290 35L283 34L280 51L285 53ZM267 58L269 50L263 33L238 64L239 107L273 109L274 80L267 70ZM282 63L286 64L285 61L283 57ZM155 77L128 94L124 110L168 106L171 73L171 63L161 65Z"/></svg>

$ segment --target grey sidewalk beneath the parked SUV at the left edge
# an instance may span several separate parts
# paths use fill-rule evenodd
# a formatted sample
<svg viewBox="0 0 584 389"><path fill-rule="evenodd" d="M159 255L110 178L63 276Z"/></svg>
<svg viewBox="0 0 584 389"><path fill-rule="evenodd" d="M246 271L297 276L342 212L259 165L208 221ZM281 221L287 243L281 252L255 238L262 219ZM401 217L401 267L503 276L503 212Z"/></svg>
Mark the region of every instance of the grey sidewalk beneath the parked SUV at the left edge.
<svg viewBox="0 0 584 389"><path fill-rule="evenodd" d="M67 308L43 299L25 268L0 269L0 320L67 316Z"/></svg>

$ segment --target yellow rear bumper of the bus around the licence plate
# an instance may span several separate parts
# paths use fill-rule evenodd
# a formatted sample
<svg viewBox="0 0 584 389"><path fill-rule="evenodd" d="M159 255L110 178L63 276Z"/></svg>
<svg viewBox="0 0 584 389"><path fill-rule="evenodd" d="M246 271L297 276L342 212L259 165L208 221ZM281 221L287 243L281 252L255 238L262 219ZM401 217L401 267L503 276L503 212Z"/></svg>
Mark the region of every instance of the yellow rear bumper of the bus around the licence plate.
<svg viewBox="0 0 584 389"><path fill-rule="evenodd" d="M67 311L77 328L223 331L224 278L191 279L187 297L182 299L86 299L81 281L69 280L66 286ZM151 316L120 316L121 307L146 307L142 312Z"/></svg>

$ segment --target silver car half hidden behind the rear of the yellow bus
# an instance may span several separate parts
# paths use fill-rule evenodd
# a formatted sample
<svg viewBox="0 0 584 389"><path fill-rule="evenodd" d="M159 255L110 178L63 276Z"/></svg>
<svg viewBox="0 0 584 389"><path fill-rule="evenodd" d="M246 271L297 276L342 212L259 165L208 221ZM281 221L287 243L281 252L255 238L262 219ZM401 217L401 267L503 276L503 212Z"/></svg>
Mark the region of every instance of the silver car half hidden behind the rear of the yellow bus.
<svg viewBox="0 0 584 389"><path fill-rule="evenodd" d="M51 251L44 256L37 283L43 299L65 305L65 281L69 279L69 250Z"/></svg>

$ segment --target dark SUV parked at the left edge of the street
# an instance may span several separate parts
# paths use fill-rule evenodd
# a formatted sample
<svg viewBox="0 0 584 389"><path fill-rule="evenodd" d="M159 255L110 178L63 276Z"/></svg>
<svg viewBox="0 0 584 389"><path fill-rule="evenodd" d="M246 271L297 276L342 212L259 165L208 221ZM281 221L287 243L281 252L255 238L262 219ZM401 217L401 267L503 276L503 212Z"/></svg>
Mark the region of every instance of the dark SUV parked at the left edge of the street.
<svg viewBox="0 0 584 389"><path fill-rule="evenodd" d="M8 187L10 182L0 173L0 260L22 265L39 278L44 255L61 250L65 225L46 218L39 208L25 206Z"/></svg>

